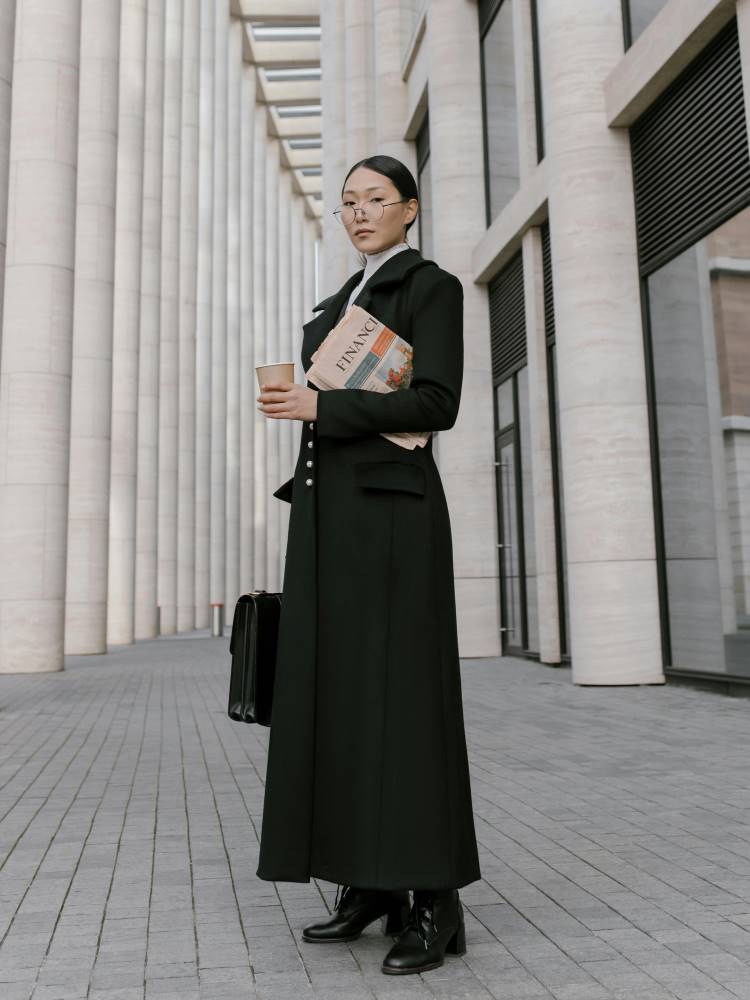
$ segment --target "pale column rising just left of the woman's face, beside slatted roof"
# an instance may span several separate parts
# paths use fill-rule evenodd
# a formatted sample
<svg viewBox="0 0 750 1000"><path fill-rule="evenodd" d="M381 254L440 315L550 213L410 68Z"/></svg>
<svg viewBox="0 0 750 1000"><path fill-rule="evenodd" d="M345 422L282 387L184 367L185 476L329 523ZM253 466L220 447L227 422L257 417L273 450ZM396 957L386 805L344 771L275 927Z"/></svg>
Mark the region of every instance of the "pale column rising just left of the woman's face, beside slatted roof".
<svg viewBox="0 0 750 1000"><path fill-rule="evenodd" d="M323 242L325 245L325 274L321 281L320 298L331 295L340 288L352 271L358 267L356 253L346 230L331 214L341 204L341 188L351 166L346 148L346 79L345 47L340 39L344 35L344 0L321 0L320 4L320 65L321 99L325 113L322 116L322 141L325 156L323 171ZM347 47L350 43L347 42ZM353 160L351 161L354 162ZM320 299L316 299L314 306ZM310 307L312 308L312 306ZM307 322L312 319L310 309L305 313Z"/></svg>

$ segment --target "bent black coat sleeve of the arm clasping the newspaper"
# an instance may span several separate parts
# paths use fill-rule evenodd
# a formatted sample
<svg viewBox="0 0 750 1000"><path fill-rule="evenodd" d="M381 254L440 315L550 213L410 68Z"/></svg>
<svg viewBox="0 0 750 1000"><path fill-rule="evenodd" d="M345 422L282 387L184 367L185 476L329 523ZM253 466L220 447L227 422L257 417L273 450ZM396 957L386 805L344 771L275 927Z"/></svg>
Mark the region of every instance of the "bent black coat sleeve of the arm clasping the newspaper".
<svg viewBox="0 0 750 1000"><path fill-rule="evenodd" d="M458 416L463 381L463 285L453 274L414 307L408 389L326 389L318 393L318 434L347 438L381 431L442 431Z"/></svg>

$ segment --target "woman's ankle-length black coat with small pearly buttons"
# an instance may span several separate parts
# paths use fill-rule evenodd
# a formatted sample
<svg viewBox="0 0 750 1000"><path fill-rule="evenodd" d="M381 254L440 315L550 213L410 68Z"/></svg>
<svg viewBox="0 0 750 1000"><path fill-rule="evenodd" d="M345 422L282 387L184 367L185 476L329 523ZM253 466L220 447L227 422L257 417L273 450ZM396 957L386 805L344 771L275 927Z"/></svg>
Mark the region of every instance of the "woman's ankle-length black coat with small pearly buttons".
<svg viewBox="0 0 750 1000"><path fill-rule="evenodd" d="M305 371L362 273L315 306ZM448 507L432 441L378 432L455 423L463 288L409 249L355 302L409 341L414 374L391 393L321 392L274 493L292 506L257 875L459 888L481 876Z"/></svg>

